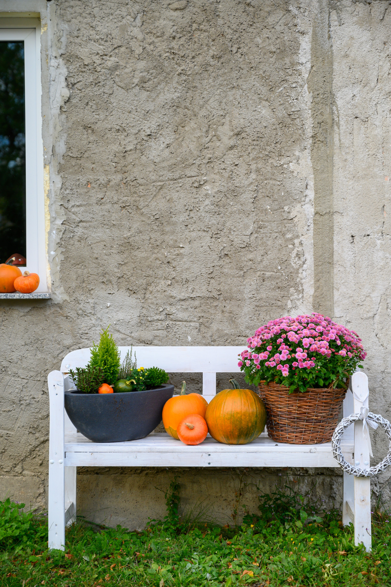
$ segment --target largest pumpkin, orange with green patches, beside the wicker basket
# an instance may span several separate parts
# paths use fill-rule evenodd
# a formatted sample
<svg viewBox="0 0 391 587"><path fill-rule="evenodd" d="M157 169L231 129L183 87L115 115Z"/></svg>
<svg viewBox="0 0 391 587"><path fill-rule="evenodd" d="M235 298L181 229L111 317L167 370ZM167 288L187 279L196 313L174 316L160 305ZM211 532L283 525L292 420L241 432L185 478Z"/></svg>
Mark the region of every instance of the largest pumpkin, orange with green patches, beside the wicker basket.
<svg viewBox="0 0 391 587"><path fill-rule="evenodd" d="M247 444L257 438L266 424L266 410L251 389L224 389L210 401L205 414L209 434L225 444Z"/></svg>

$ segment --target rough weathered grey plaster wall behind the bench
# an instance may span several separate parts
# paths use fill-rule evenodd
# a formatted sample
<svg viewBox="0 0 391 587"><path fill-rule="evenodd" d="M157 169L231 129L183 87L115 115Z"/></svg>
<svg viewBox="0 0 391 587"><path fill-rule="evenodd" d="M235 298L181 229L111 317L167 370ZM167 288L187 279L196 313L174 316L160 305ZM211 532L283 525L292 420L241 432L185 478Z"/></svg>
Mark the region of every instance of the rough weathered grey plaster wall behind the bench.
<svg viewBox="0 0 391 587"><path fill-rule="evenodd" d="M109 323L120 345L241 345L321 310L363 336L387 417L388 2L36 4L53 299L1 301L0 498L45 507L46 375ZM140 527L175 473L80 469L80 511ZM230 518L243 471L177 473ZM341 500L337 470L282 475Z"/></svg>

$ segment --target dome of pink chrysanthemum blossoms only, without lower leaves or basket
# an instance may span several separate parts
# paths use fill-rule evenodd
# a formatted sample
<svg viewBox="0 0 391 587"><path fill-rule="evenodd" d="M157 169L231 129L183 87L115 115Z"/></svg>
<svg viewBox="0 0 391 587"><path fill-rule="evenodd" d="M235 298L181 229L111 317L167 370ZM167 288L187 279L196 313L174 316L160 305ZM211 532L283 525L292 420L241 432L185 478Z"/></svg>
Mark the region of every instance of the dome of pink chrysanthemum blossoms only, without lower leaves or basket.
<svg viewBox="0 0 391 587"><path fill-rule="evenodd" d="M346 360L366 357L361 339L354 330L317 313L272 320L258 328L247 343L250 350L241 353L239 367L245 364L261 369L259 363L262 361L265 367L277 367L284 377L288 376L289 369L311 369L318 358L329 359L333 353Z"/></svg>

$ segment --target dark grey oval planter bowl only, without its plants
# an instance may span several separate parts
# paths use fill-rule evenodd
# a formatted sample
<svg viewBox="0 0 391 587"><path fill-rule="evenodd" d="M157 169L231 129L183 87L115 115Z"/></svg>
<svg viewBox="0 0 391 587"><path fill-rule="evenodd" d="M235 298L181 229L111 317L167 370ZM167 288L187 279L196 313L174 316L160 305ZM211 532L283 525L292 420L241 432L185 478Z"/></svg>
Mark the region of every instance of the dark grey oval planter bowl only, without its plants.
<svg viewBox="0 0 391 587"><path fill-rule="evenodd" d="M123 442L150 434L161 421L174 386L144 392L65 392L65 409L76 429L93 442Z"/></svg>

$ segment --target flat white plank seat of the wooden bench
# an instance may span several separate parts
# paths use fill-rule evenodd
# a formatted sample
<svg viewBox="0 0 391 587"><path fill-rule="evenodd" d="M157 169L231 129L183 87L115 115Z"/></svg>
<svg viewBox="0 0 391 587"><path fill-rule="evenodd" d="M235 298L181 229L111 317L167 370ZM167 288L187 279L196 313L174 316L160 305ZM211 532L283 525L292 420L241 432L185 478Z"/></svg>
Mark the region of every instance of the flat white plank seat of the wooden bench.
<svg viewBox="0 0 391 587"><path fill-rule="evenodd" d="M352 445L343 446L343 451L351 461ZM65 453L67 466L338 467L331 443L279 444L265 434L249 444L222 444L208 434L197 446L164 433L122 443L93 443L82 434L69 434Z"/></svg>

